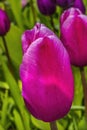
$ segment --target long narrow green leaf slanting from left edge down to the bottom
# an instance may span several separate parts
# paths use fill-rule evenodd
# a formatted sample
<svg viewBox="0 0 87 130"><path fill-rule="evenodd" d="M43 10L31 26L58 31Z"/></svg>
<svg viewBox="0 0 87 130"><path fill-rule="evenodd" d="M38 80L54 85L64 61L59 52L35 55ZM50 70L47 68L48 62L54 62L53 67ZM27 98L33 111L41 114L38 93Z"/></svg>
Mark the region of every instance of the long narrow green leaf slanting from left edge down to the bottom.
<svg viewBox="0 0 87 130"><path fill-rule="evenodd" d="M25 130L30 130L29 115L26 112L18 84L16 83L15 79L13 78L11 72L9 71L7 65L5 64L1 56L0 56L0 59L2 61L2 68L3 68L4 76L6 78L7 83L9 84L11 94L21 114L21 118L22 118Z"/></svg>

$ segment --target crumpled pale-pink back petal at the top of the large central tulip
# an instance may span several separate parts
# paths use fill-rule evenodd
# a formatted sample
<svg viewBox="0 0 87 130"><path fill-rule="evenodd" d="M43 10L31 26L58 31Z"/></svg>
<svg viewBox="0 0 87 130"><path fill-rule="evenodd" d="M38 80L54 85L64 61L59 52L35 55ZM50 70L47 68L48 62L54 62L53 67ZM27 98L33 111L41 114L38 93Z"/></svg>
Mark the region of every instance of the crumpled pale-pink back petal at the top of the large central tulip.
<svg viewBox="0 0 87 130"><path fill-rule="evenodd" d="M37 23L33 29L25 31L24 34L22 35L23 53L26 52L27 48L34 40L49 35L54 35L54 33L40 23Z"/></svg>

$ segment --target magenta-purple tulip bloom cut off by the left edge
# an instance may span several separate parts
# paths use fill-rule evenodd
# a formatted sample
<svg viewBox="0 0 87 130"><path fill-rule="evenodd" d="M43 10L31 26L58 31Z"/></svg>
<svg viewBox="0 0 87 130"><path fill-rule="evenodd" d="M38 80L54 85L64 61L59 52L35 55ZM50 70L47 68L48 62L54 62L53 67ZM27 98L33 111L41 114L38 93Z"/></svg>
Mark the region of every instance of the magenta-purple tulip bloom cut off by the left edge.
<svg viewBox="0 0 87 130"><path fill-rule="evenodd" d="M6 12L0 9L0 36L6 35L10 29L10 20Z"/></svg>

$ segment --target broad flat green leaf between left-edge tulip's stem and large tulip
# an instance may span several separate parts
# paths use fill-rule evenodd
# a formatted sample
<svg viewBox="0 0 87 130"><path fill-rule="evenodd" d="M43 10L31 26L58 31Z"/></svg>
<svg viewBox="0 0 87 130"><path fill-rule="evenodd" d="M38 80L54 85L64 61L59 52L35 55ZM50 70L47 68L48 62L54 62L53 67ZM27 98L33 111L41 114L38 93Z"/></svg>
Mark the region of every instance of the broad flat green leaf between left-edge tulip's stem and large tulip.
<svg viewBox="0 0 87 130"><path fill-rule="evenodd" d="M6 36L9 55L18 67L22 59L21 35L22 30L12 24L11 29Z"/></svg>

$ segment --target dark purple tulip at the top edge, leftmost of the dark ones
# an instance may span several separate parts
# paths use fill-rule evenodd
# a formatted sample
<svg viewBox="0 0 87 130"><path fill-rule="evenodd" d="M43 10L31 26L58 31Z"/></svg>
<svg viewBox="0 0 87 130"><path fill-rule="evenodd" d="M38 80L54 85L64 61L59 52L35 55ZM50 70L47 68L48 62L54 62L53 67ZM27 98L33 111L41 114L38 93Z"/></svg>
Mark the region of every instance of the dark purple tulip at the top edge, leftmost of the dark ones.
<svg viewBox="0 0 87 130"><path fill-rule="evenodd" d="M52 15L56 10L56 4L51 0L37 0L37 5L44 15Z"/></svg>

